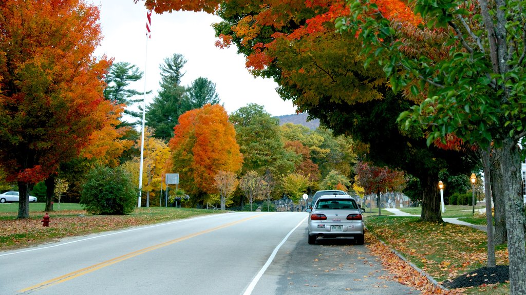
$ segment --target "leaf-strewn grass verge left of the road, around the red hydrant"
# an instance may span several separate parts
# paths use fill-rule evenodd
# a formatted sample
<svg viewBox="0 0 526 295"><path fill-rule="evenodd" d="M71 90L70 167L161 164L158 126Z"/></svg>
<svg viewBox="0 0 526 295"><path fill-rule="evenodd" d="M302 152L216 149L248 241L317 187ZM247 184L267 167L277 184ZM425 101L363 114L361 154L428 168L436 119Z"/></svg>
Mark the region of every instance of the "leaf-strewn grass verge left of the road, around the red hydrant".
<svg viewBox="0 0 526 295"><path fill-rule="evenodd" d="M56 209L57 204L54 207ZM12 210L13 208L15 208L14 211ZM43 227L40 222L44 215L42 212L44 209L43 203L30 204L29 218L27 219L16 219L17 203L1 204L0 250L35 246L60 238L99 233L130 226L148 225L199 215L221 213L220 210L141 207L136 208L134 213L130 215L95 216L87 214L78 204L61 204L60 208L60 210L49 213L51 217L49 227Z"/></svg>

